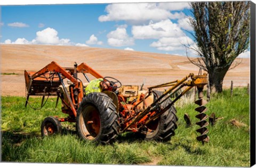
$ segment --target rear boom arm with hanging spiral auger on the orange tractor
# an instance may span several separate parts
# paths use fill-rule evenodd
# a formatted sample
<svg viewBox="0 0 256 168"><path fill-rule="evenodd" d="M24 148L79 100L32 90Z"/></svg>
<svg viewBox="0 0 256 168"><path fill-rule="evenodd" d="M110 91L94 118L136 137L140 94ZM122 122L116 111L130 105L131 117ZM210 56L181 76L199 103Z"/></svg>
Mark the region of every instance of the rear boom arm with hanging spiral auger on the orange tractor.
<svg viewBox="0 0 256 168"><path fill-rule="evenodd" d="M148 125L150 122L153 122L154 120L158 119L163 113L169 110L169 108L171 108L171 106L175 102L177 102L177 100L179 100L183 95L185 95L191 88L196 87L198 90L199 99L195 103L200 106L196 108L196 111L200 113L196 117L201 120L196 123L201 127L197 129L197 132L201 133L201 136L198 136L197 140L202 142L209 141L209 137L206 135L206 133L208 132L206 126L209 124L208 122L206 122L206 119L208 117L205 114L206 107L204 105L206 104L206 102L205 100L203 100L203 87L207 84L207 82L207 74L194 75L193 73L190 73L181 80L171 81L168 83L163 83L161 85L149 87L148 94L145 95L144 99L146 99L149 95L154 93L154 91L152 90L154 88L170 88L164 91L164 93L161 96L159 96L156 100L154 100L153 103L151 103L149 106L143 109L143 111L139 112L137 115L134 115L132 119L130 118L129 120L126 120L125 122L129 122L129 124L127 124L127 126L123 130L121 130L121 132L125 132L127 129L134 127L134 125L137 125L138 130L142 129L143 127L146 127L146 125ZM181 91L181 93L174 100L172 100L170 104L168 104L164 108L161 107L161 105L167 99L170 99L170 96L177 93L183 87L185 87L185 89ZM139 102L138 104L143 103L143 100L141 100L141 102Z"/></svg>

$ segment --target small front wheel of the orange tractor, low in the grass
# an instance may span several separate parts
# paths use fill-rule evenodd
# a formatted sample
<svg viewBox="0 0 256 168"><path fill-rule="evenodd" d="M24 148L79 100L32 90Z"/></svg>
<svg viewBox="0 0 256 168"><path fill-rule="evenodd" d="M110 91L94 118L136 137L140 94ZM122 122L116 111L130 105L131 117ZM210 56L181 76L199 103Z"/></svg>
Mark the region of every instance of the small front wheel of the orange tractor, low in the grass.
<svg viewBox="0 0 256 168"><path fill-rule="evenodd" d="M62 127L60 121L53 116L46 117L41 124L41 135L43 137L58 134L61 133L61 131Z"/></svg>

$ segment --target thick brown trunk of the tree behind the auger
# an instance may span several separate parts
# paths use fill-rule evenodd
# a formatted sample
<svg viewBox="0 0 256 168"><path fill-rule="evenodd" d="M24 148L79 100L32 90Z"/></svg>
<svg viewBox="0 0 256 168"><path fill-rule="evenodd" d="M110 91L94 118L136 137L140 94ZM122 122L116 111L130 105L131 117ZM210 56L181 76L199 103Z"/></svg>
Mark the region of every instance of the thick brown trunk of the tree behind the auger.
<svg viewBox="0 0 256 168"><path fill-rule="evenodd" d="M223 79L227 71L228 71L228 68L209 71L209 84L210 84L211 93L222 92Z"/></svg>

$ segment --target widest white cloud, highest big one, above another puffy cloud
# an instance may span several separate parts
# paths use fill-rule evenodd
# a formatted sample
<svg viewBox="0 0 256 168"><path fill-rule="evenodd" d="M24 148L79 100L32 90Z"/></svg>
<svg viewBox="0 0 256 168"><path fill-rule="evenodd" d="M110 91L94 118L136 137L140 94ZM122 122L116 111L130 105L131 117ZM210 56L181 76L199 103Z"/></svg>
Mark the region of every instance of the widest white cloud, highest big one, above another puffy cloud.
<svg viewBox="0 0 256 168"><path fill-rule="evenodd" d="M125 20L132 23L141 23L150 20L179 19L184 16L182 12L173 14L169 10L159 7L157 3L110 4L105 11L108 14L99 16L100 22Z"/></svg>

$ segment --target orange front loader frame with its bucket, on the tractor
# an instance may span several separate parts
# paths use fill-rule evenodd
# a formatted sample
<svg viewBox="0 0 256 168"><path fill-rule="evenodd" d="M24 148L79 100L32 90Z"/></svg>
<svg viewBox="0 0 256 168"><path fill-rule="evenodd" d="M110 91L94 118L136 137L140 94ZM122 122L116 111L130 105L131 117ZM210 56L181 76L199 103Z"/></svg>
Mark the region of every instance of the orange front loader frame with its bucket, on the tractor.
<svg viewBox="0 0 256 168"><path fill-rule="evenodd" d="M57 89L55 88L54 90L53 83L56 83L56 87L62 85L63 89L65 90L66 88L63 85L63 79L67 78L73 82L73 85L70 87L70 95L67 93L67 90L65 93L67 95L68 102L66 102L63 98L61 98L61 100L64 105L70 108L68 111L63 111L63 113L69 114L69 117L59 120L75 122L76 110L84 96L83 83L82 81L78 81L77 72L90 73L95 78L103 78L102 75L100 75L85 63L82 63L78 66L75 65L74 68L62 68L59 64L53 61L37 72L27 72L25 70L25 82L28 93L27 102L30 95L45 96L47 94L45 91L46 89L50 90L48 92L49 94L52 93L51 95L53 96L58 95L58 92L57 94L55 92ZM49 88L45 87L46 82L50 83L52 88L51 86Z"/></svg>

